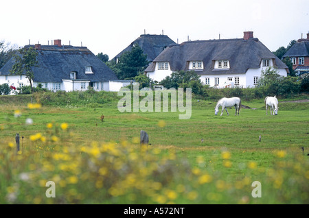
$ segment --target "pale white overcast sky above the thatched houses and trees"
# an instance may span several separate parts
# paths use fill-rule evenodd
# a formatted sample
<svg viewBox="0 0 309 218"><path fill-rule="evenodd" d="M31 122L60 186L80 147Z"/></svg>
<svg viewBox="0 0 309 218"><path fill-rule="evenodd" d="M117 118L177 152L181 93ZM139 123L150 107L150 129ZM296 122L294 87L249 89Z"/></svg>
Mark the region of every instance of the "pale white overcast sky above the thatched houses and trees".
<svg viewBox="0 0 309 218"><path fill-rule="evenodd" d="M242 38L244 31L271 51L309 32L308 0L1 0L0 40L88 47L113 58L141 34L174 42Z"/></svg>

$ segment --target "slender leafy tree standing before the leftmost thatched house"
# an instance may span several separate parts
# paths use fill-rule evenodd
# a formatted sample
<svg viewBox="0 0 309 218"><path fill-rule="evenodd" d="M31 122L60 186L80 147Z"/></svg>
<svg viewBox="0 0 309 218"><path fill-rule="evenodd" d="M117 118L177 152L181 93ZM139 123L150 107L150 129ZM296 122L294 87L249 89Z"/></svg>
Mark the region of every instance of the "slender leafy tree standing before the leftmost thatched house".
<svg viewBox="0 0 309 218"><path fill-rule="evenodd" d="M10 73L13 75L23 75L30 82L31 90L33 92L32 80L34 79L33 68L38 67L38 61L36 60L38 53L33 47L19 49L19 53L14 55L15 64L12 66Z"/></svg>

